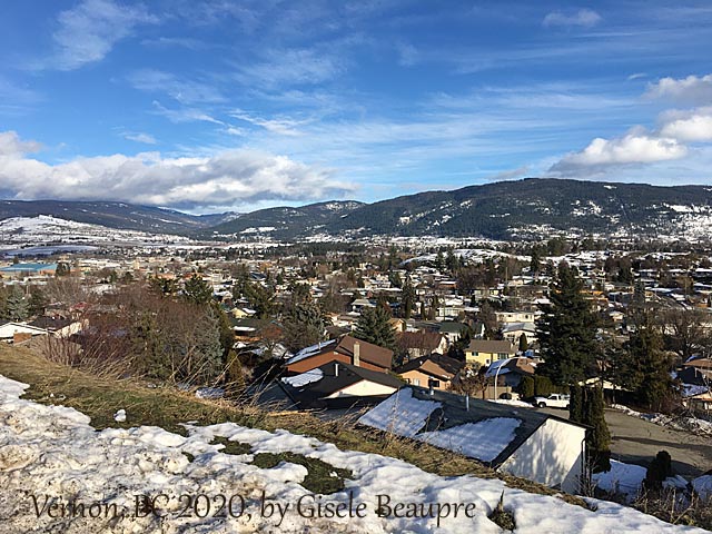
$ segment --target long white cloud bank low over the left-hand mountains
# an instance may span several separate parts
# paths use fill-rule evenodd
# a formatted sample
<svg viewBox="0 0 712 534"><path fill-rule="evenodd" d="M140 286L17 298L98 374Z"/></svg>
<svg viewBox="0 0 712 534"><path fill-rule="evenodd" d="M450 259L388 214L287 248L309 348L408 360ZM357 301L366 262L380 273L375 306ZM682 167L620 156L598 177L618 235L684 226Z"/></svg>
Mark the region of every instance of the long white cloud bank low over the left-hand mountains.
<svg viewBox="0 0 712 534"><path fill-rule="evenodd" d="M310 200L354 187L334 172L251 150L211 157L164 158L158 152L77 158L48 165L17 134L0 134L0 182L18 199L119 200L177 208L230 207L260 200Z"/></svg>

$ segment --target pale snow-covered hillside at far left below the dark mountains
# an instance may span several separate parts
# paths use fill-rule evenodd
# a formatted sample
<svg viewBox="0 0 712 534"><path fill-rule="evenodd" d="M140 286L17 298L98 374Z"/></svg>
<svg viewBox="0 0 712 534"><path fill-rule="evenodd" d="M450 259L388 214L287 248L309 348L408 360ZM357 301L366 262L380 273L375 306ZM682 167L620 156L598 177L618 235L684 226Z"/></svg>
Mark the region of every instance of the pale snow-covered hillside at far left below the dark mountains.
<svg viewBox="0 0 712 534"><path fill-rule="evenodd" d="M77 222L47 215L13 217L0 220L0 245L11 247L38 245L110 245L188 243L185 237L118 230L98 225Z"/></svg>

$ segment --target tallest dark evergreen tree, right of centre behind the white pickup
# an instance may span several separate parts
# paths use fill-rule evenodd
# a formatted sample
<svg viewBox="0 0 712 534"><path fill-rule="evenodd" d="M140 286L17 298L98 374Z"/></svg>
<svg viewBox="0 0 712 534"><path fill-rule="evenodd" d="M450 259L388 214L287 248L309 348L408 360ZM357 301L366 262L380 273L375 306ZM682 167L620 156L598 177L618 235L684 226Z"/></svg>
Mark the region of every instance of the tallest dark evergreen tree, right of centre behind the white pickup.
<svg viewBox="0 0 712 534"><path fill-rule="evenodd" d="M597 320L582 289L576 269L560 265L550 294L552 304L542 306L544 315L536 324L544 358L537 372L557 385L577 383L595 368Z"/></svg>

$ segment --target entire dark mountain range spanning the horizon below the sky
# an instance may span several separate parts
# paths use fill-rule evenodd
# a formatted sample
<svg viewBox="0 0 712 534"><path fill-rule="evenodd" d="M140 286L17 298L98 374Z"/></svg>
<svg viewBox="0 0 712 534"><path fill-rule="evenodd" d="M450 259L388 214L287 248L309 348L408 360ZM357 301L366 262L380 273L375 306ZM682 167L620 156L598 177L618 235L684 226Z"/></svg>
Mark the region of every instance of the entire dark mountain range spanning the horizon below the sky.
<svg viewBox="0 0 712 534"><path fill-rule="evenodd" d="M0 201L0 220L39 215L202 239L257 235L281 240L315 235L527 239L553 233L699 238L712 227L712 187L526 178L374 204L328 201L202 216L122 202Z"/></svg>

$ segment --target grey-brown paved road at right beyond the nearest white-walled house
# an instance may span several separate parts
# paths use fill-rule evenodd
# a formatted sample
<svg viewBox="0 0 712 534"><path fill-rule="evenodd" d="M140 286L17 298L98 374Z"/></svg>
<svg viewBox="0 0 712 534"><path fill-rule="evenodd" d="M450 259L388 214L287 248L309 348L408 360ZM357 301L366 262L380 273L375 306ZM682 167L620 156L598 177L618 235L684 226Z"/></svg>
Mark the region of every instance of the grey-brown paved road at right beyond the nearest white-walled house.
<svg viewBox="0 0 712 534"><path fill-rule="evenodd" d="M565 409L541 411L560 417L568 416ZM710 438L672 431L616 409L606 409L605 421L611 431L611 453L614 459L647 467L655 454L664 449L672 456L673 468L678 474L694 477L712 469Z"/></svg>

